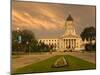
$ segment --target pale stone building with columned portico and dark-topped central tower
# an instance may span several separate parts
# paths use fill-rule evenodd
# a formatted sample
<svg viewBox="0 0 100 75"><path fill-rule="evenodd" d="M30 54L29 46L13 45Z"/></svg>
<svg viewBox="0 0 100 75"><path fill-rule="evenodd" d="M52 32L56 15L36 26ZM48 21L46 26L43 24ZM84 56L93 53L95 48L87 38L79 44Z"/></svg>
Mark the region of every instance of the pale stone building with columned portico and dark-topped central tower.
<svg viewBox="0 0 100 75"><path fill-rule="evenodd" d="M69 15L65 22L64 34L61 37L38 39L38 42L53 45L57 51L80 51L83 49L83 41L81 37L76 34L74 26L74 20L71 15Z"/></svg>

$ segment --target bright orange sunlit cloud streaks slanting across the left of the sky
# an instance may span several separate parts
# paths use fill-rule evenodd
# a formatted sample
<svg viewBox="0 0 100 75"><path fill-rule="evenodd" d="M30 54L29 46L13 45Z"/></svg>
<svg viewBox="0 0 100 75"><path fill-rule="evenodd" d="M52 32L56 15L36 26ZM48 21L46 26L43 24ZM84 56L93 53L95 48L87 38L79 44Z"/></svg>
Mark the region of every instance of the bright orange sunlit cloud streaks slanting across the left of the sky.
<svg viewBox="0 0 100 75"><path fill-rule="evenodd" d="M53 20L53 19L56 19L55 15L48 12L47 10L42 10L41 13L43 14L41 16L48 17L49 20L31 16L29 13L27 13L25 11L18 12L15 9L12 10L12 19L13 19L13 22L18 24L19 26L24 25L24 27L38 29L38 30L42 29L42 28L44 28L46 30L51 30L51 29L55 30L59 27L59 25L58 26L56 25L57 21ZM54 21L54 22L52 22L52 21Z"/></svg>

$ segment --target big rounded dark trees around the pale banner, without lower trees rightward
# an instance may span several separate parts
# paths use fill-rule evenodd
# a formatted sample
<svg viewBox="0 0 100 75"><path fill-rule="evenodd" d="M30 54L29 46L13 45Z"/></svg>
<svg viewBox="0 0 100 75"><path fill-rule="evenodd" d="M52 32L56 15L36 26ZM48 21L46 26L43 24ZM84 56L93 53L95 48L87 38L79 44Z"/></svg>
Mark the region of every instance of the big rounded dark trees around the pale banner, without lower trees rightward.
<svg viewBox="0 0 100 75"><path fill-rule="evenodd" d="M19 43L18 37L21 36ZM12 49L13 51L29 52L32 46L36 44L34 33L30 30L12 31ZM34 44L34 45L33 45Z"/></svg>

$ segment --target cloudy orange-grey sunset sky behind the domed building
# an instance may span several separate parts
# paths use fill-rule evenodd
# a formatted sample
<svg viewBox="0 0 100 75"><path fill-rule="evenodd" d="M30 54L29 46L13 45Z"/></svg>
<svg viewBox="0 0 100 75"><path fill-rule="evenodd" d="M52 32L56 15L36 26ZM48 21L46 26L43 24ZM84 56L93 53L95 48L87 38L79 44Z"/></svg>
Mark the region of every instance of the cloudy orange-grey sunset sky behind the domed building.
<svg viewBox="0 0 100 75"><path fill-rule="evenodd" d="M29 29L36 38L57 38L64 34L66 18L71 14L76 33L95 27L95 6L39 2L12 2L12 30Z"/></svg>

